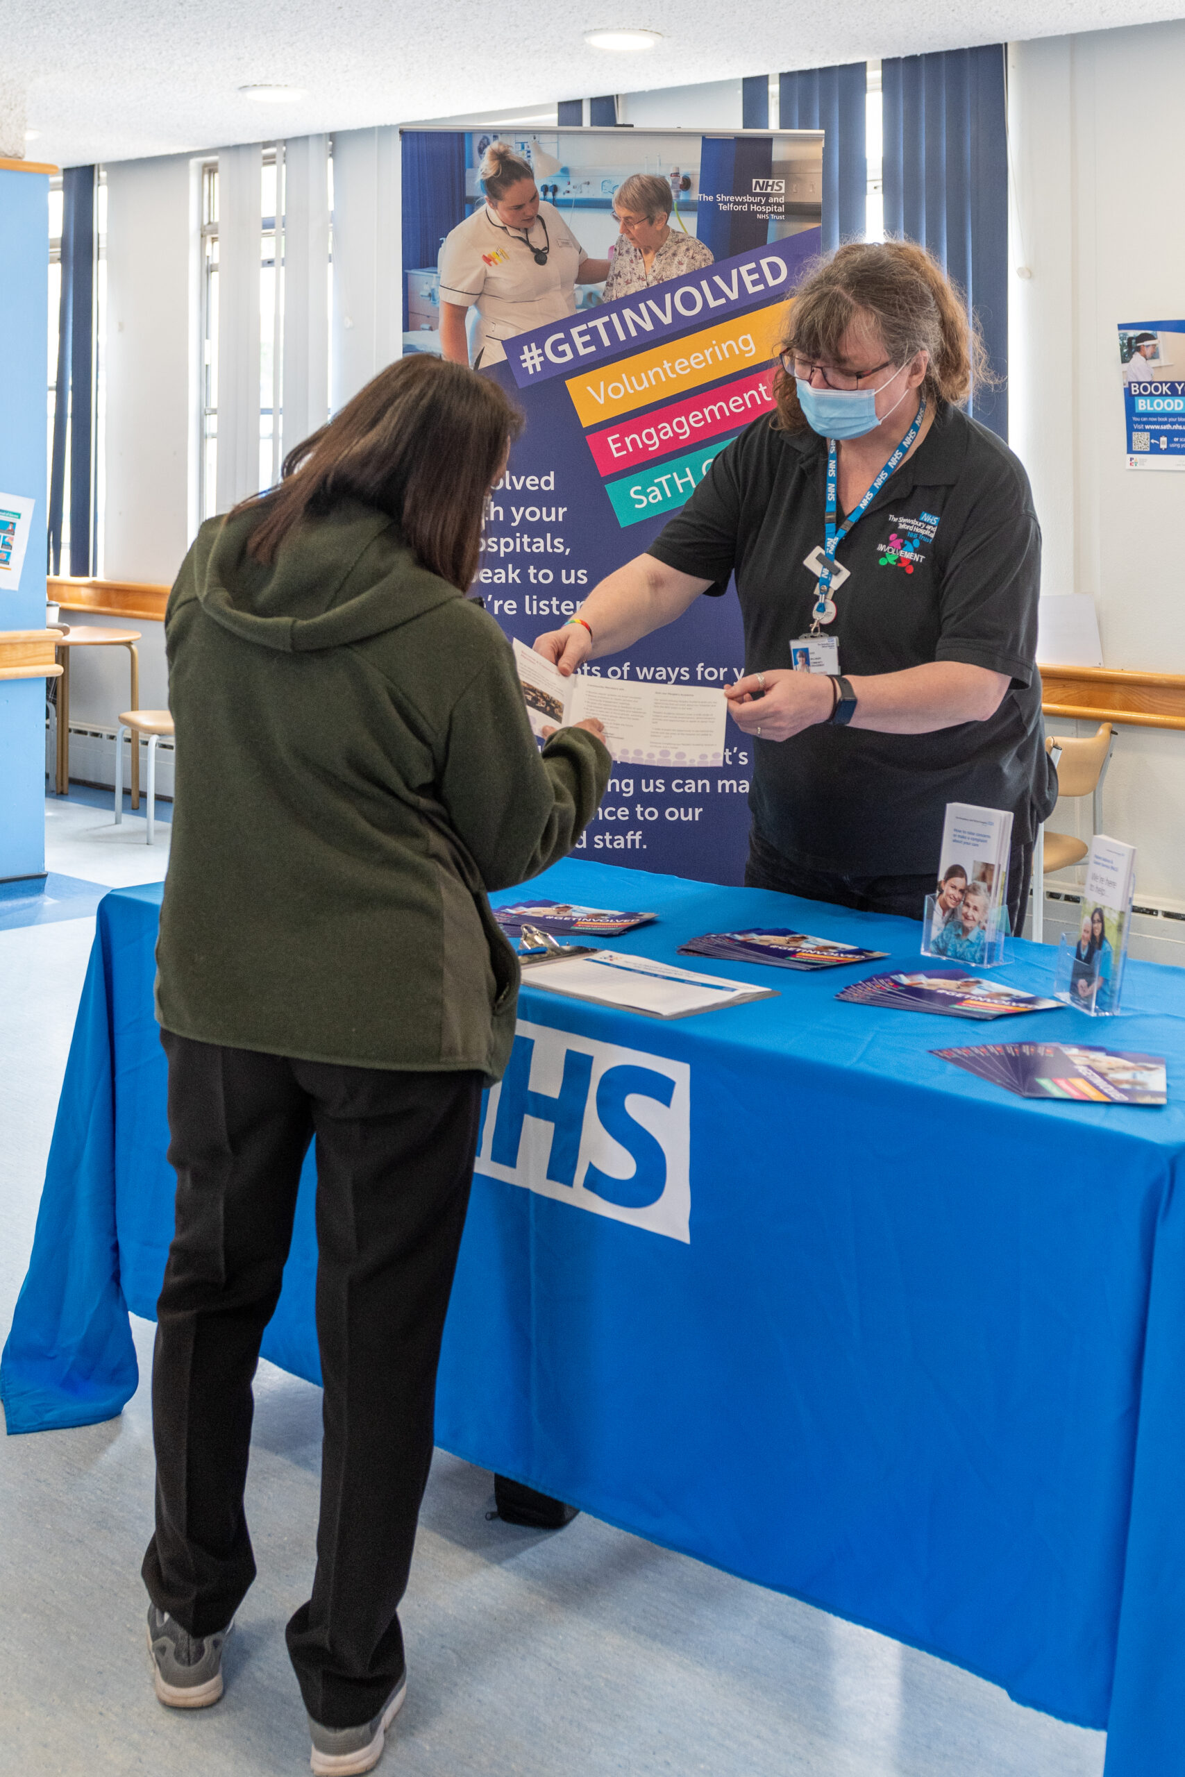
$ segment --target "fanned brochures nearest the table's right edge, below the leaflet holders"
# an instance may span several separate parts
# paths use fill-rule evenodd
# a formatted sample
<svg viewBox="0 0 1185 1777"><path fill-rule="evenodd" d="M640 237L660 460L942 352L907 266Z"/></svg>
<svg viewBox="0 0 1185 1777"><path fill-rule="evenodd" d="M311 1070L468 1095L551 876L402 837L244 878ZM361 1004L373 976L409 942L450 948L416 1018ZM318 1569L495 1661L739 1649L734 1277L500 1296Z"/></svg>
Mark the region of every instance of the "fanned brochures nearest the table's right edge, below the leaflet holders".
<svg viewBox="0 0 1185 1777"><path fill-rule="evenodd" d="M934 1048L934 1056L1022 1098L1071 1098L1096 1105L1162 1105L1169 1100L1164 1056L1094 1043L982 1043Z"/></svg>

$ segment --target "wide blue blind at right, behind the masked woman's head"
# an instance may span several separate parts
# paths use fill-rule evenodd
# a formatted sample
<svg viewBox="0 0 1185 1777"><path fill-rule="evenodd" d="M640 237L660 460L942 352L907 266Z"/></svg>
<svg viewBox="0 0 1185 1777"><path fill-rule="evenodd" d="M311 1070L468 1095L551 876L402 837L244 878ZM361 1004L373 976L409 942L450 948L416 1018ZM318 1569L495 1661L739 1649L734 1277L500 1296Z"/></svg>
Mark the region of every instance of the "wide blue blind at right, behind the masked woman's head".
<svg viewBox="0 0 1185 1777"><path fill-rule="evenodd" d="M970 412L1007 437L1004 46L881 62L885 233L917 240L966 293L1000 380Z"/></svg>

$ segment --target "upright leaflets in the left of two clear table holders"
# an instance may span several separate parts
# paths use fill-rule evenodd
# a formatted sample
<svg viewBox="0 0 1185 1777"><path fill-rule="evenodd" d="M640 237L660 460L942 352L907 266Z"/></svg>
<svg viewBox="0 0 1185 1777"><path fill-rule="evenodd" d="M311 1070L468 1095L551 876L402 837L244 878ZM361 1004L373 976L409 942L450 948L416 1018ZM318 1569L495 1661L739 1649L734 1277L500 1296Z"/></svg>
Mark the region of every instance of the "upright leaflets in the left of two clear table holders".
<svg viewBox="0 0 1185 1777"><path fill-rule="evenodd" d="M1007 809L947 803L938 883L926 903L922 956L945 956L972 968L1004 961L1011 844Z"/></svg>

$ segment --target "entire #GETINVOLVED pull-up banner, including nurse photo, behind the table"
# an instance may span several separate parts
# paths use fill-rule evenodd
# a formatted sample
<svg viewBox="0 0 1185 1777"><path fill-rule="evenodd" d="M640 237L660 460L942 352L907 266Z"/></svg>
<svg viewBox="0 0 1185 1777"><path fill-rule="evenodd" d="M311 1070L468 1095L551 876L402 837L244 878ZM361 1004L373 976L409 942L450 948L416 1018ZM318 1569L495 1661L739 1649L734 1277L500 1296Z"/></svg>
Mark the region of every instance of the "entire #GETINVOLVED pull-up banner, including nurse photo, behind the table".
<svg viewBox="0 0 1185 1777"><path fill-rule="evenodd" d="M526 416L473 588L510 640L570 617L773 412L821 160L819 131L403 131L403 348L464 354ZM720 689L744 672L736 599L590 670ZM741 883L750 768L736 730L720 768L622 766L576 855Z"/></svg>

